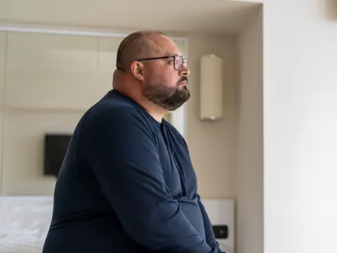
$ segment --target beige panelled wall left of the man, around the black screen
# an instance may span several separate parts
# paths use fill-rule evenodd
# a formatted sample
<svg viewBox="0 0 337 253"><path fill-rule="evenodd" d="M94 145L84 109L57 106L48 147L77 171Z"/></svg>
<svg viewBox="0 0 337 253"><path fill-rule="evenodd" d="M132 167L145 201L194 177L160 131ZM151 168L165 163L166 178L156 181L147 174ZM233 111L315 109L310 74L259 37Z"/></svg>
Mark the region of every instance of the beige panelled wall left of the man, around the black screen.
<svg viewBox="0 0 337 253"><path fill-rule="evenodd" d="M44 176L44 136L72 134L81 115L112 89L122 37L1 35L0 41L8 41L6 74L0 83L6 79L6 92L1 92L6 100L0 115L1 194L53 195L55 177ZM179 44L185 51L185 44ZM4 42L1 45L4 48ZM0 57L4 62L4 50ZM176 112L172 117L176 125Z"/></svg>

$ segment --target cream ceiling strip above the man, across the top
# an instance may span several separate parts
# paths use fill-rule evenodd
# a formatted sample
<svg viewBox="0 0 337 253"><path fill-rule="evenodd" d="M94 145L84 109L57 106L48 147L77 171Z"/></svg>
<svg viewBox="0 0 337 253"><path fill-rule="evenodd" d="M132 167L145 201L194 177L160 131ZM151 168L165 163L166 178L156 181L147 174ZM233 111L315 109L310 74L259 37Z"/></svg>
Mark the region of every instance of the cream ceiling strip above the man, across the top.
<svg viewBox="0 0 337 253"><path fill-rule="evenodd" d="M258 1L0 0L4 24L166 32L237 32ZM1 24L0 23L0 24Z"/></svg>

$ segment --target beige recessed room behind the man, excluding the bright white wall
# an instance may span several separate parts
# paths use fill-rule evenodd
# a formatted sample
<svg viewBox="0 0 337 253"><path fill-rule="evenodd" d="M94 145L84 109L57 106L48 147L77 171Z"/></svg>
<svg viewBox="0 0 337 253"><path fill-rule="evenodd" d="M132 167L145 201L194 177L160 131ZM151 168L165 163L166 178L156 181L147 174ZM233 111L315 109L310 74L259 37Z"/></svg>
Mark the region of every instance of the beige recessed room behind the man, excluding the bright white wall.
<svg viewBox="0 0 337 253"><path fill-rule="evenodd" d="M136 30L165 32L189 60L192 96L166 119L187 141L213 225L226 226L221 247L263 252L263 4L216 0L1 1L0 249L41 252L51 160L112 89L119 43ZM201 60L213 56L217 77Z"/></svg>

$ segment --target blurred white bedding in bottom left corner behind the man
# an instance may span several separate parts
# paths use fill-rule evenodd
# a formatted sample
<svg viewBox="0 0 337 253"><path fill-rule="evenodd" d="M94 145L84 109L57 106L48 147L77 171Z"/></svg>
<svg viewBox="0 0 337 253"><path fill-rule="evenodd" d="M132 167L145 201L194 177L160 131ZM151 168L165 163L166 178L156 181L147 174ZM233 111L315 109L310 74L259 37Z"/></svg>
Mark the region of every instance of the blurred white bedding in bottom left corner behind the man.
<svg viewBox="0 0 337 253"><path fill-rule="evenodd" d="M53 197L0 197L0 252L41 253Z"/></svg>

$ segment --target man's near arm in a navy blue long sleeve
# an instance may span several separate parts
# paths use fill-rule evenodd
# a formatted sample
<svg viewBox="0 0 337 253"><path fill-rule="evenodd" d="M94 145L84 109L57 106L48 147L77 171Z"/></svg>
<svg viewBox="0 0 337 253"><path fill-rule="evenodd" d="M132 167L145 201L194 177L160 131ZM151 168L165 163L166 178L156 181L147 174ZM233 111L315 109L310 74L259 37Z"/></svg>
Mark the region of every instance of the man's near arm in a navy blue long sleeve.
<svg viewBox="0 0 337 253"><path fill-rule="evenodd" d="M152 132L132 108L90 112L84 157L126 233L151 252L210 253L164 182Z"/></svg>

